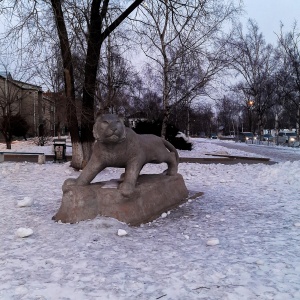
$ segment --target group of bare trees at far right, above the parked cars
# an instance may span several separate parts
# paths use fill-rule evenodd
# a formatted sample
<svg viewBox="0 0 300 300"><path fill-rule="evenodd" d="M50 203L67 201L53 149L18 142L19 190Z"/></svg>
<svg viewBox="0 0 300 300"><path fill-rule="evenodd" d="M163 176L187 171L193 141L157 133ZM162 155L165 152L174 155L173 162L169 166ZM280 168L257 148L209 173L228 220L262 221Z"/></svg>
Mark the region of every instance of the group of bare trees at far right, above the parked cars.
<svg viewBox="0 0 300 300"><path fill-rule="evenodd" d="M297 24L286 33L283 29L281 25L273 46L266 43L255 21L249 20L246 32L236 26L226 44L236 82L216 107L227 134L296 129L299 137L299 30Z"/></svg>

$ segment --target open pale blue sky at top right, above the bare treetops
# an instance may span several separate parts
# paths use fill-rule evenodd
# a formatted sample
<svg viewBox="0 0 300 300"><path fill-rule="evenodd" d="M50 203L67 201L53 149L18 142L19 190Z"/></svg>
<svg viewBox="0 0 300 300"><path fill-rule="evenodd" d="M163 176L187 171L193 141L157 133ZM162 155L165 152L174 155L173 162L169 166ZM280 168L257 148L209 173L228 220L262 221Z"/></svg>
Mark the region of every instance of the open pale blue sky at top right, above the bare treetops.
<svg viewBox="0 0 300 300"><path fill-rule="evenodd" d="M280 21L284 31L289 31L297 21L300 25L300 0L243 0L245 14L242 23L249 18L257 21L260 31L268 43L276 43L276 35L280 30Z"/></svg>

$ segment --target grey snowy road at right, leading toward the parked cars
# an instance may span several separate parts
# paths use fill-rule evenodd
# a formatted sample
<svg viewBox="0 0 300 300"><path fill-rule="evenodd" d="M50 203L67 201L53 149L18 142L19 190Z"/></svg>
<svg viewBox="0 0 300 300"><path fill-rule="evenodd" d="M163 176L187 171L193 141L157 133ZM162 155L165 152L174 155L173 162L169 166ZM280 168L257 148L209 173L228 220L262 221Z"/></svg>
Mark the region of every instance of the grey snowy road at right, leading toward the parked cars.
<svg viewBox="0 0 300 300"><path fill-rule="evenodd" d="M272 161L276 162L300 160L300 148L245 143L228 143L225 141L220 141L217 144L229 149L238 149L245 152L255 153L261 155L262 157L269 157Z"/></svg>

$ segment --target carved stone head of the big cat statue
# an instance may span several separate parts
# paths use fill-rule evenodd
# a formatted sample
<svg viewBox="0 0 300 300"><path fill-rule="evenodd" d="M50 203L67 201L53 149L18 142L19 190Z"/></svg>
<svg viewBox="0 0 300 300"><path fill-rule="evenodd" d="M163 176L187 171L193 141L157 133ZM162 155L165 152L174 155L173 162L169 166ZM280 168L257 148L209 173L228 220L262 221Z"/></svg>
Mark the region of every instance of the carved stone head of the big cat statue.
<svg viewBox="0 0 300 300"><path fill-rule="evenodd" d="M104 144L116 144L126 138L125 125L117 115L98 115L93 127L94 138Z"/></svg>

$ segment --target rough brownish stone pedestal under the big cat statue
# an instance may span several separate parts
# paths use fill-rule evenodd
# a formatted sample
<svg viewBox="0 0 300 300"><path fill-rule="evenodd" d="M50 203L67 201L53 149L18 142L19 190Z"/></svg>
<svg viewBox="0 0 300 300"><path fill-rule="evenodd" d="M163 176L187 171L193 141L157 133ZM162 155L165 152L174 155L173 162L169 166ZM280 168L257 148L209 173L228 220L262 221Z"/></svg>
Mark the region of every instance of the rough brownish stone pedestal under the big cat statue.
<svg viewBox="0 0 300 300"><path fill-rule="evenodd" d="M185 202L188 196L180 174L140 175L130 197L124 197L117 186L117 180L68 186L53 219L76 223L101 215L136 226L156 219L161 213Z"/></svg>

